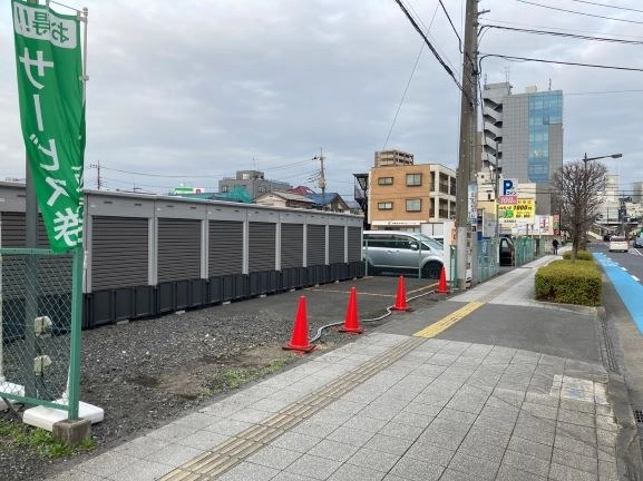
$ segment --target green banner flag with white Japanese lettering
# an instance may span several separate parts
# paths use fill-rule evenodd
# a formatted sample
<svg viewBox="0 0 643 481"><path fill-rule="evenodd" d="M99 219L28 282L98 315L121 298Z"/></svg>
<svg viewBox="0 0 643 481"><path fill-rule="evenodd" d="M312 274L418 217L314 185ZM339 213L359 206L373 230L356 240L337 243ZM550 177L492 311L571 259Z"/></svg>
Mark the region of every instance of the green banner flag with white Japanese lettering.
<svg viewBox="0 0 643 481"><path fill-rule="evenodd" d="M12 0L22 137L52 251L82 245L80 20Z"/></svg>

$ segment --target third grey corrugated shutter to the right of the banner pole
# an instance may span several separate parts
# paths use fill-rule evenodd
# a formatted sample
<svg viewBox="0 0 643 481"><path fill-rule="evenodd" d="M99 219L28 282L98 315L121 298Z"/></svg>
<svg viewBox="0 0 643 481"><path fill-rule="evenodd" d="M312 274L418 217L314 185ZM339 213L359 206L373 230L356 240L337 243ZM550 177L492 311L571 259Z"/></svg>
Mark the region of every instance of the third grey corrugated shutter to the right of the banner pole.
<svg viewBox="0 0 643 481"><path fill-rule="evenodd" d="M210 276L243 273L243 223L238 220L211 220Z"/></svg>

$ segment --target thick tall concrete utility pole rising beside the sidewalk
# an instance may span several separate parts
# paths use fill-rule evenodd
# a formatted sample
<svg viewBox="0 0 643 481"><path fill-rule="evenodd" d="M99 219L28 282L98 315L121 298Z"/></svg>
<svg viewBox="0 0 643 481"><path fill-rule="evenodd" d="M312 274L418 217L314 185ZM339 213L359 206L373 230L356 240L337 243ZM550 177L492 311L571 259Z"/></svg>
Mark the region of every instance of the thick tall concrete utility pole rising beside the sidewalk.
<svg viewBox="0 0 643 481"><path fill-rule="evenodd" d="M477 126L477 76L478 76L478 0L467 0L465 18L465 51L462 53L462 94L460 97L460 145L458 158L456 225L457 225L457 285L464 291L467 283L467 240L471 236L471 268L476 266L477 243L469 220L469 183L474 178L474 150ZM474 206L475 207L475 206ZM477 217L477 213L476 213ZM471 279L472 282L472 279Z"/></svg>

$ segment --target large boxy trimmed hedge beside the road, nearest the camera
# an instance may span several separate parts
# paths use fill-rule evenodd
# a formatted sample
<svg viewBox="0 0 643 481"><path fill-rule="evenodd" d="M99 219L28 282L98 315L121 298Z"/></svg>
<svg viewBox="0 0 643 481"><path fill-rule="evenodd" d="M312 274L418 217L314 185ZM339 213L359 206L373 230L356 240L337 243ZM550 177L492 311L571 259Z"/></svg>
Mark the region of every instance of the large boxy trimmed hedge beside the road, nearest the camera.
<svg viewBox="0 0 643 481"><path fill-rule="evenodd" d="M536 273L539 301L586 306L601 305L601 269L593 261L554 261Z"/></svg>

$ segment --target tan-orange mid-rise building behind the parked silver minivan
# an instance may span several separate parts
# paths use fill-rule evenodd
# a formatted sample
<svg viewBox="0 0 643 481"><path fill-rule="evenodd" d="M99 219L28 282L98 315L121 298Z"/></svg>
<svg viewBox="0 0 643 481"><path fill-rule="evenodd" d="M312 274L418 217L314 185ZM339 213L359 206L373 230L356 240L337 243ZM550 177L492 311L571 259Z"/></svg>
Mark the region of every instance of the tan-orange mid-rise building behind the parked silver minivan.
<svg viewBox="0 0 643 481"><path fill-rule="evenodd" d="M397 151L398 154L405 154ZM381 158L381 157L380 157ZM378 163L369 173L369 224L372 229L420 230L456 215L456 173L437 164Z"/></svg>

